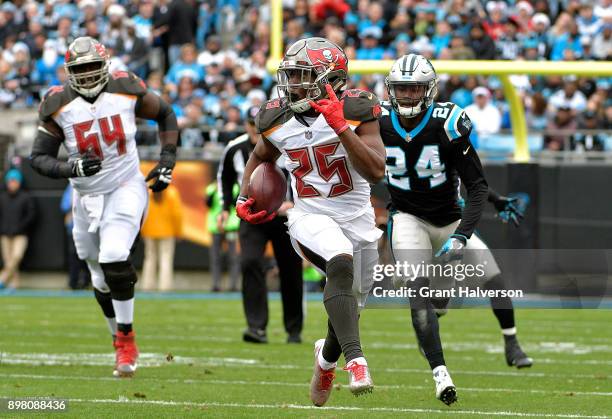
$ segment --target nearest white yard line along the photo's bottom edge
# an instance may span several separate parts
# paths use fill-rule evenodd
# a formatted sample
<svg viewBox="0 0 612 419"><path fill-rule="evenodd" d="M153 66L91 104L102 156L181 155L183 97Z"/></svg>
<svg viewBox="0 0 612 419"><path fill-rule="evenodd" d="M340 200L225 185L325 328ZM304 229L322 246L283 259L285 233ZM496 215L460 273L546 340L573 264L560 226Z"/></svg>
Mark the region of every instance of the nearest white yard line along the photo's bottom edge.
<svg viewBox="0 0 612 419"><path fill-rule="evenodd" d="M478 410L442 410L442 409L407 409L399 407L356 407L356 406L328 406L315 407L301 404L245 404L245 403L221 403L221 402L178 402L166 400L130 400L130 399L68 399L73 403L92 404L141 404L158 406L194 406L194 407L232 407L241 409L293 409L312 411L352 411L352 412L390 412L390 413L438 413L447 415L475 415L475 416L516 416L516 417L541 417L541 418L578 418L578 419L608 419L609 416L591 416L579 414L546 414L546 413L523 413L504 411L478 411Z"/></svg>

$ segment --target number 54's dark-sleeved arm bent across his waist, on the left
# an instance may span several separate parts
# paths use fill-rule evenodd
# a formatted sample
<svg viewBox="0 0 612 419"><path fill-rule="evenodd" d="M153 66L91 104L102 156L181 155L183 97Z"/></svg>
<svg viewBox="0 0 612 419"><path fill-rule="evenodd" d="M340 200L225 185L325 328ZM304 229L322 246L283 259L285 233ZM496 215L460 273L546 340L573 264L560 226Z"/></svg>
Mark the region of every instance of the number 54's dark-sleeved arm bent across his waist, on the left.
<svg viewBox="0 0 612 419"><path fill-rule="evenodd" d="M41 121L30 154L32 168L43 176L55 179L92 176L100 171L102 162L90 153L73 162L58 160L63 141L64 132L53 119Z"/></svg>

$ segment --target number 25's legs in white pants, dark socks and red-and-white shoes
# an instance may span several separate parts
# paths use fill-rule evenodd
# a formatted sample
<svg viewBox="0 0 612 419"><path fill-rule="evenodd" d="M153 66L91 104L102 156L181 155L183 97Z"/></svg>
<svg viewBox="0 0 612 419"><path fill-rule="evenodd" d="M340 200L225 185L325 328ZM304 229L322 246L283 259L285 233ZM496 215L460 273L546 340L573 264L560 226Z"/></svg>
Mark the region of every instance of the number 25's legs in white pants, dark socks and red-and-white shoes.
<svg viewBox="0 0 612 419"><path fill-rule="evenodd" d="M327 275L323 301L330 327L326 342L319 340L315 344L315 372L311 381L313 403L320 406L329 397L338 360L336 356L339 357L337 351L331 350L335 341L339 343L347 362L351 392L359 395L371 391L373 383L359 338L357 298L352 292L353 243L335 221L324 215L301 214L290 221L289 232L296 244L296 251L315 266L324 266ZM320 362L324 347L327 347L326 355L332 359L324 358Z"/></svg>

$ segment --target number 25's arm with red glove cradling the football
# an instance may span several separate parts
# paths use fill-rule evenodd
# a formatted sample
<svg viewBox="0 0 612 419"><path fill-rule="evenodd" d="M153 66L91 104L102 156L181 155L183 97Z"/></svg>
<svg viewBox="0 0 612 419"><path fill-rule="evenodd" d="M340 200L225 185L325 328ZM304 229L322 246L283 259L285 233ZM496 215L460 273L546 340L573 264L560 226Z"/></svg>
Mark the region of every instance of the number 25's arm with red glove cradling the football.
<svg viewBox="0 0 612 419"><path fill-rule="evenodd" d="M240 184L240 196L236 201L236 214L241 219L251 224L259 224L271 221L276 217L276 212L268 214L266 211L253 213L252 206L255 199L249 198L249 180L253 171L263 162L275 162L280 156L280 151L263 135L255 145L249 160L244 168L242 183Z"/></svg>

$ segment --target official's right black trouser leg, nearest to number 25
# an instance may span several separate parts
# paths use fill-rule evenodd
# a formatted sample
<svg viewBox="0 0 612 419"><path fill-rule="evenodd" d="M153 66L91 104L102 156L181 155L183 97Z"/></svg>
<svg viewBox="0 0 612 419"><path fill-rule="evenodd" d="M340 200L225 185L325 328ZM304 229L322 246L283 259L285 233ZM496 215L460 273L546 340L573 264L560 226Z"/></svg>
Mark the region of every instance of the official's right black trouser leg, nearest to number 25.
<svg viewBox="0 0 612 419"><path fill-rule="evenodd" d="M283 322L288 334L287 343L302 342L304 325L304 283L302 280L302 259L291 246L283 218L269 222L269 237L272 239L274 256L280 277L280 293L283 302Z"/></svg>

